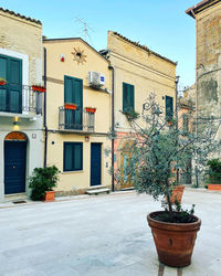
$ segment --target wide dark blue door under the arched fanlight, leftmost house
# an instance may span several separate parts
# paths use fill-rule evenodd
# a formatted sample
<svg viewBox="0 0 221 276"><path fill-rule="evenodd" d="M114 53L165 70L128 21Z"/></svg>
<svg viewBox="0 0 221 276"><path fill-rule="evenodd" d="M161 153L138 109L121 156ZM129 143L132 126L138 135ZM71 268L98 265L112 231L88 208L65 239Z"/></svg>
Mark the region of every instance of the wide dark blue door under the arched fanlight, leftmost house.
<svg viewBox="0 0 221 276"><path fill-rule="evenodd" d="M4 194L25 192L27 142L4 141Z"/></svg>

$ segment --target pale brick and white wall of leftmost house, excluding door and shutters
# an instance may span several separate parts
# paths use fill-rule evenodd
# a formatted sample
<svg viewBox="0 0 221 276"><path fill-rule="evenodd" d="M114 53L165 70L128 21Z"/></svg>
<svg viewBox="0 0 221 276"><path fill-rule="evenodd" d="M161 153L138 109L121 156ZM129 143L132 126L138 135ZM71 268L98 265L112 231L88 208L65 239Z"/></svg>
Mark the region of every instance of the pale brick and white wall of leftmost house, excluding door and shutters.
<svg viewBox="0 0 221 276"><path fill-rule="evenodd" d="M42 25L27 19L0 11L0 54L22 60L22 84L39 84L42 79ZM28 89L22 91L23 94ZM24 104L24 103L23 103ZM21 131L28 138L27 146L27 194L28 177L35 167L42 167L42 116L0 113L0 201L4 200L4 137L11 131ZM14 116L19 125L13 125Z"/></svg>

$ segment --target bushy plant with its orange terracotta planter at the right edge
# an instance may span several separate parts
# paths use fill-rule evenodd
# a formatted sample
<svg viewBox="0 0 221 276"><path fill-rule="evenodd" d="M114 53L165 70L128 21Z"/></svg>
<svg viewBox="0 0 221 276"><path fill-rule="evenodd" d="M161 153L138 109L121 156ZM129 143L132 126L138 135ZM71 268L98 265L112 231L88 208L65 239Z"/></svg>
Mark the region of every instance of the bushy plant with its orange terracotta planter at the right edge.
<svg viewBox="0 0 221 276"><path fill-rule="evenodd" d="M221 161L211 159L207 162L206 180L209 190L221 191Z"/></svg>

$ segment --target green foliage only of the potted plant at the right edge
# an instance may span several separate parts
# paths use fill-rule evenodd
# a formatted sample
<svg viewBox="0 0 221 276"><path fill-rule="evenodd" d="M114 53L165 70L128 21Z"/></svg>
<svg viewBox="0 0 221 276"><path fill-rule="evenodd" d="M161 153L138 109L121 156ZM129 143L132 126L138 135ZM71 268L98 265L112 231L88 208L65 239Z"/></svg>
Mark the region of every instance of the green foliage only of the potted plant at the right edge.
<svg viewBox="0 0 221 276"><path fill-rule="evenodd" d="M209 167L204 173L207 183L221 183L221 161L219 159L211 159L207 162L207 166Z"/></svg>

